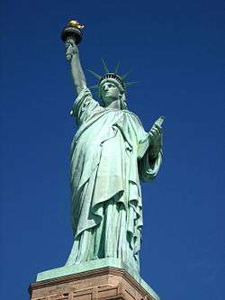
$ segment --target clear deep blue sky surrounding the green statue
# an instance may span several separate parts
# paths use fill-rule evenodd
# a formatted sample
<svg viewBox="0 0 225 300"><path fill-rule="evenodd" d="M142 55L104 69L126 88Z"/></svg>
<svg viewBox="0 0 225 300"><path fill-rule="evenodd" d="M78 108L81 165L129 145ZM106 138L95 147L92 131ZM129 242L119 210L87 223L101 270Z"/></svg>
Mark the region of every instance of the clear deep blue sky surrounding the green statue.
<svg viewBox="0 0 225 300"><path fill-rule="evenodd" d="M225 298L224 10L221 1L1 1L0 298L28 299L72 245L74 91L59 34L85 23L84 68L121 60L146 130L166 116L164 164L143 185L141 274L165 300ZM87 82L94 79L86 74Z"/></svg>

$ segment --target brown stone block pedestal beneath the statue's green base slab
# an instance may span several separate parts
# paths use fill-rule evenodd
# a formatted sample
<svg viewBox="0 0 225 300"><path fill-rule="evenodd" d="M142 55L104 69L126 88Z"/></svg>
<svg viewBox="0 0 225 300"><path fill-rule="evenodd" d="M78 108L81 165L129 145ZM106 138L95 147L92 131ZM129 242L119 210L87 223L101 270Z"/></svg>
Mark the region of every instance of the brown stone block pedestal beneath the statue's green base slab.
<svg viewBox="0 0 225 300"><path fill-rule="evenodd" d="M158 300L125 269L105 267L31 284L31 300Z"/></svg>

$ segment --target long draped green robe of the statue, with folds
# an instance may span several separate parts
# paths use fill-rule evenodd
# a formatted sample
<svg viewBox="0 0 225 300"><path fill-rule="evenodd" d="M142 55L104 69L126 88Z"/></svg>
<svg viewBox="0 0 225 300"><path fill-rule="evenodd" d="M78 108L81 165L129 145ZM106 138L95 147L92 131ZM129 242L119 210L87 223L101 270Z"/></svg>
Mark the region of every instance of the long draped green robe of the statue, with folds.
<svg viewBox="0 0 225 300"><path fill-rule="evenodd" d="M157 175L161 152L149 162L148 133L128 110L104 108L88 88L72 114L78 131L71 145L74 245L67 265L117 258L139 270L142 202L139 179Z"/></svg>

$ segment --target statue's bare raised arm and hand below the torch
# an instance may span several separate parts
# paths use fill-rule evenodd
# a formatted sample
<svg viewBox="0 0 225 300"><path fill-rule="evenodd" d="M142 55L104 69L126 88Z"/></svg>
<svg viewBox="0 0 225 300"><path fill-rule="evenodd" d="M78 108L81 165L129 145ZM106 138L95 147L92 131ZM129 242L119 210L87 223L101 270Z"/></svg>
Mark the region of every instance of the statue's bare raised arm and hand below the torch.
<svg viewBox="0 0 225 300"><path fill-rule="evenodd" d="M65 42L66 59L70 61L73 83L76 88L76 94L79 95L82 89L86 87L85 74L80 64L79 50L72 37L68 37Z"/></svg>

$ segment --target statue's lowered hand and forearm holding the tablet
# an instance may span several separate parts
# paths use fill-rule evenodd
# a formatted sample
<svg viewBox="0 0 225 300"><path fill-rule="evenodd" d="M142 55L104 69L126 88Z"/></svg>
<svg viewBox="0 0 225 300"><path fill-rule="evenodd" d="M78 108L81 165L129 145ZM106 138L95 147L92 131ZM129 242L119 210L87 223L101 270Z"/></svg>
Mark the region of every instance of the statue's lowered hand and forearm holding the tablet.
<svg viewBox="0 0 225 300"><path fill-rule="evenodd" d="M157 155L162 148L163 134L162 127L154 123L149 132L149 160L157 159Z"/></svg>

